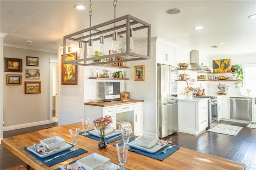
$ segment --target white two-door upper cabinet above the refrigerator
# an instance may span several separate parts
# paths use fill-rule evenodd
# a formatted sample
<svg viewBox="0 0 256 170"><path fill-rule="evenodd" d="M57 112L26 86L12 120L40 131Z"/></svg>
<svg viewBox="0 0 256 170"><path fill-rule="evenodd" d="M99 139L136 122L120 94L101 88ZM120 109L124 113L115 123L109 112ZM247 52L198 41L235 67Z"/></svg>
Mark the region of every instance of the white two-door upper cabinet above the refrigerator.
<svg viewBox="0 0 256 170"><path fill-rule="evenodd" d="M164 45L162 43L157 43L156 45L157 62L175 66L175 47Z"/></svg>

